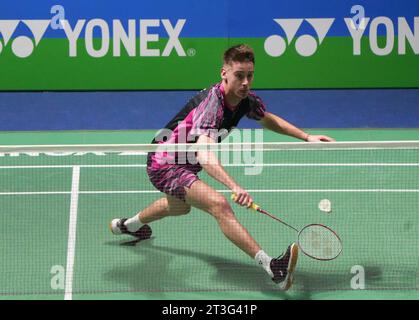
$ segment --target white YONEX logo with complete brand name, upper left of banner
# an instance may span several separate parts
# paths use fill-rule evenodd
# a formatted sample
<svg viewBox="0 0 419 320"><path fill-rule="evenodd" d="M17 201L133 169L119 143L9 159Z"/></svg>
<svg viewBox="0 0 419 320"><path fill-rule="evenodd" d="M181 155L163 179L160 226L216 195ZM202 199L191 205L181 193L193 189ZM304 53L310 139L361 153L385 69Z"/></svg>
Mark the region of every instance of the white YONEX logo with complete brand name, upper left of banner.
<svg viewBox="0 0 419 320"><path fill-rule="evenodd" d="M42 40L48 26L53 20L0 20L0 54L10 43L11 50L15 56L19 58L29 57ZM178 56L186 56L186 52L180 42L180 34L186 23L186 19L178 19L175 21L174 25L167 19L130 19L128 20L128 30L123 27L123 23L120 20L112 20L110 26L108 25L108 22L103 19L93 19L90 21L77 20L74 27L70 25L68 20L60 19L59 21L60 28L64 30L65 36L69 42L70 57L77 57L78 55L77 45L83 28L85 33L84 42L86 52L89 56L94 58L103 57L110 51L112 51L113 56L119 57L121 56L122 47L130 57L137 55L142 57L167 57L170 56L173 51L175 51ZM28 36L18 36L12 39L20 23L29 28L33 35L32 38ZM153 31L150 31L149 29L160 27L160 25L163 25L168 36L168 41L162 52L160 52L160 49L149 48L152 43L160 41L159 34L156 31L153 33ZM51 27L57 29L53 26ZM138 40L137 29L139 30L139 46L136 43ZM95 48L93 45L94 30L97 30L99 33L99 48ZM113 34L112 39L111 34ZM113 40L113 43L111 43L111 40ZM194 49L188 49L188 55L195 55Z"/></svg>

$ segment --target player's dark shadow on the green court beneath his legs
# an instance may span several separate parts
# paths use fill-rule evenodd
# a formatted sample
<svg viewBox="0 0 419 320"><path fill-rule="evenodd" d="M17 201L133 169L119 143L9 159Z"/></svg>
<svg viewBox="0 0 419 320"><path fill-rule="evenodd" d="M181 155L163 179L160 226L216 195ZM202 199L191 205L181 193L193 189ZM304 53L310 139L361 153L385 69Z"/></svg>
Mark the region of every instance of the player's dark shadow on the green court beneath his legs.
<svg viewBox="0 0 419 320"><path fill-rule="evenodd" d="M257 265L242 263L225 257L214 256L189 249L179 249L153 244L149 240L127 242L112 241L108 245L123 246L140 256L137 262L116 266L104 276L107 280L126 283L132 291L219 291L221 289L238 291L258 291L270 299L315 299L321 292L350 290L353 274L343 272L316 273L297 269L293 289L281 292ZM200 265L191 270L176 268L179 256L199 259L208 267ZM302 259L303 257L300 257ZM202 273L199 283L196 275ZM369 286L382 284L382 270L376 266L365 266ZM208 278L208 279L206 279ZM195 282L194 282L195 279ZM191 288L193 283L193 288ZM213 290L212 290L213 289Z"/></svg>

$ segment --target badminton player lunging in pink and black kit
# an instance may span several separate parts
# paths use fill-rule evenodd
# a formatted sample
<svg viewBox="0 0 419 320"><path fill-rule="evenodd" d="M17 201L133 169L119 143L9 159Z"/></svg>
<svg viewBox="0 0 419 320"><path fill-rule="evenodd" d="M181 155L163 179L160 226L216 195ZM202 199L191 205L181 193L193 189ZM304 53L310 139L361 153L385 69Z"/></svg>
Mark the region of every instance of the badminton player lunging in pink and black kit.
<svg viewBox="0 0 419 320"><path fill-rule="evenodd" d="M181 132L186 132L186 142L218 143L223 138L220 132L228 133L244 116L258 121L264 128L303 141L333 141L327 136L310 135L266 111L262 99L250 91L255 67L252 48L247 45L231 47L224 52L223 60L221 81L192 97L167 124L164 132L170 132L170 135L166 134L164 139L157 135L153 143L185 143L180 139ZM209 176L237 195L236 203L247 207L252 204L252 196L224 170L216 155L208 150L200 150L196 155L197 163L176 163L176 159L169 160L173 161L168 161L167 153L149 153L148 176L151 183L165 193L165 196L129 219L112 220L111 231L116 235L139 237L142 228L149 228L148 224L151 222L168 216L188 214L191 207L201 209L216 219L224 236L250 258L255 259L281 290L288 290L297 263L297 245L289 245L278 258L272 258L262 250L237 220L226 198L197 175L202 169L205 170Z"/></svg>

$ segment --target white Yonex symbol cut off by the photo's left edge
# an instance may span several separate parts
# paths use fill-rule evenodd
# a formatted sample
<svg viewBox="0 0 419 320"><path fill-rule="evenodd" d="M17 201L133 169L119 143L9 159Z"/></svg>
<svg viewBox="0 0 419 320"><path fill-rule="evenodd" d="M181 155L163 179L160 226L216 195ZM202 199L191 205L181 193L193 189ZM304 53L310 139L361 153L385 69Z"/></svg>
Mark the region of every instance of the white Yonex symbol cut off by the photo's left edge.
<svg viewBox="0 0 419 320"><path fill-rule="evenodd" d="M10 41L21 22L29 28L33 38L18 36ZM0 20L0 35L2 37L0 40L0 54L10 41L14 55L19 58L29 57L42 40L50 22L51 20Z"/></svg>

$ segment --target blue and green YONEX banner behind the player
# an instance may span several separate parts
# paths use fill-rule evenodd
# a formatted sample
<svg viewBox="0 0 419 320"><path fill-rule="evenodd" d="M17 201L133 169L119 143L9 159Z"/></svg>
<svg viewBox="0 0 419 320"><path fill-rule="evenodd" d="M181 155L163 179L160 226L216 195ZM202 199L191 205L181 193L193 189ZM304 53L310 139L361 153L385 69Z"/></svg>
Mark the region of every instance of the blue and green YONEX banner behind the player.
<svg viewBox="0 0 419 320"><path fill-rule="evenodd" d="M255 89L419 87L418 1L21 0L0 3L0 90L200 89L238 43Z"/></svg>

